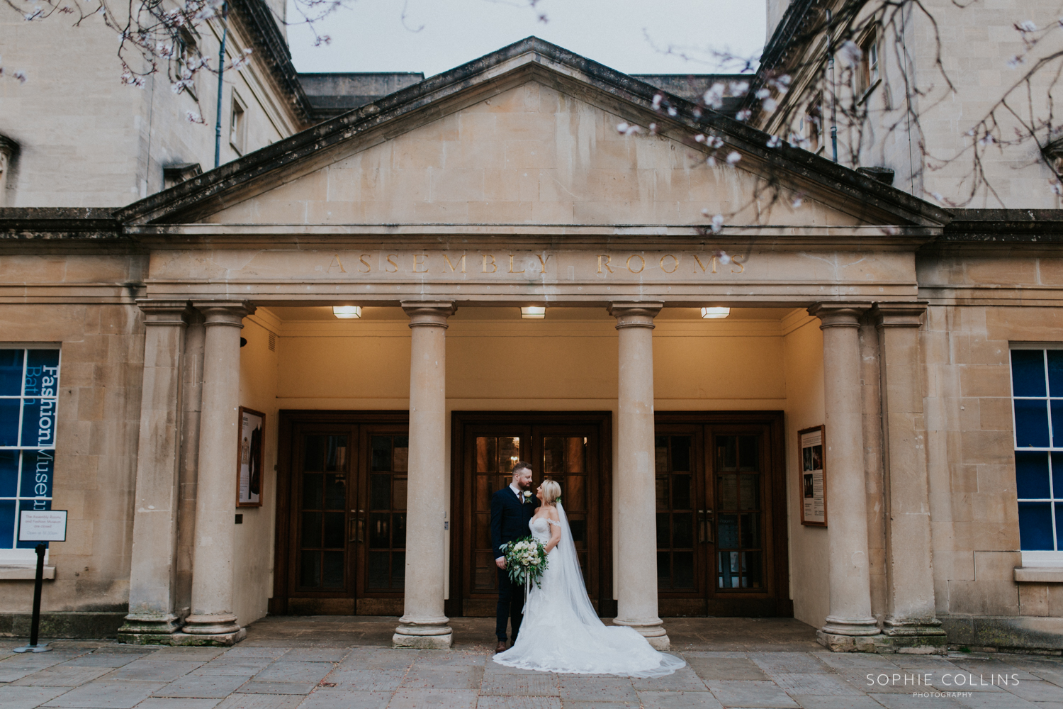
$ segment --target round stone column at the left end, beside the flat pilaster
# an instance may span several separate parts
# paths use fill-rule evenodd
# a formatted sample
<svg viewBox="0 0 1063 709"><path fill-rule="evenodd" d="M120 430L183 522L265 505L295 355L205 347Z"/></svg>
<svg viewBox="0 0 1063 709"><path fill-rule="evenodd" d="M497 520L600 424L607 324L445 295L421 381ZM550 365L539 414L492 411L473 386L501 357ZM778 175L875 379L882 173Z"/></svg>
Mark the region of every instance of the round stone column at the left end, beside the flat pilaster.
<svg viewBox="0 0 1063 709"><path fill-rule="evenodd" d="M199 644L231 645L247 631L233 612L236 460L240 406L240 330L254 306L243 301L192 303L205 319L192 606L184 632Z"/></svg>

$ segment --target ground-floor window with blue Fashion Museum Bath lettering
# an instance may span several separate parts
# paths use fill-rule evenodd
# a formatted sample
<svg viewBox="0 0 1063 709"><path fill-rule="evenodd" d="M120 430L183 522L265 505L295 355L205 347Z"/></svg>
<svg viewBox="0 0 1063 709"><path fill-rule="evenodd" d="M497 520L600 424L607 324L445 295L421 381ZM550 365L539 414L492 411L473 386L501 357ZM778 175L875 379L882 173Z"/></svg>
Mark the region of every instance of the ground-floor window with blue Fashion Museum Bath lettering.
<svg viewBox="0 0 1063 709"><path fill-rule="evenodd" d="M0 562L29 562L18 512L52 508L57 349L0 348Z"/></svg>

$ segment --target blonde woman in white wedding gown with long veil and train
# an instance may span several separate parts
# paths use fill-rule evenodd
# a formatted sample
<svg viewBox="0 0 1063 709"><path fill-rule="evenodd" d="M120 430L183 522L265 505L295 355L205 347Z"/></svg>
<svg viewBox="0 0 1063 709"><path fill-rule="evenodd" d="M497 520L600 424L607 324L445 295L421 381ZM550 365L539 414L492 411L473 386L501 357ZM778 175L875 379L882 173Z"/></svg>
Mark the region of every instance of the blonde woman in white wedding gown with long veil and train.
<svg viewBox="0 0 1063 709"><path fill-rule="evenodd" d="M536 496L542 505L528 527L545 544L549 563L541 588L532 584L513 646L495 655L494 661L522 670L627 677L662 677L684 666L679 658L654 649L635 628L607 626L598 620L584 587L559 499L561 486L543 480Z"/></svg>

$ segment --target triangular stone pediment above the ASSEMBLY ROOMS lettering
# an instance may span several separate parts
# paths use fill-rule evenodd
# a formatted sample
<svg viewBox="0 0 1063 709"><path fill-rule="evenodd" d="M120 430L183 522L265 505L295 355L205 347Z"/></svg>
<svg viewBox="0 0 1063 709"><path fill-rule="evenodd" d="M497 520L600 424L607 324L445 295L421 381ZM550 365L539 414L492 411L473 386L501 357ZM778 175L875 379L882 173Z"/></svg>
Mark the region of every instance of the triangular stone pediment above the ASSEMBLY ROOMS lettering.
<svg viewBox="0 0 1063 709"><path fill-rule="evenodd" d="M449 75L453 74L453 75ZM528 39L126 207L126 223L933 226L937 208ZM618 126L638 125L637 133ZM653 128L651 124L655 124ZM696 135L718 136L712 149ZM737 164L726 156L736 154ZM715 165L707 157L714 156ZM795 206L795 204L797 206ZM706 216L707 215L707 216Z"/></svg>

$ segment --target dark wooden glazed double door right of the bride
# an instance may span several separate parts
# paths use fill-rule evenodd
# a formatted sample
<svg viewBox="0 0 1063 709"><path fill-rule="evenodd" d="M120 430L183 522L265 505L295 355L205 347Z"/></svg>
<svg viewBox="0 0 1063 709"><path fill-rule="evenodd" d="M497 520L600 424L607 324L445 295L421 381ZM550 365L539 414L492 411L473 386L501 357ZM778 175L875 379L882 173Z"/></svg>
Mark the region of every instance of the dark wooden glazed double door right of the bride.
<svg viewBox="0 0 1063 709"><path fill-rule="evenodd" d="M782 436L781 411L657 415L661 615L793 615Z"/></svg>

